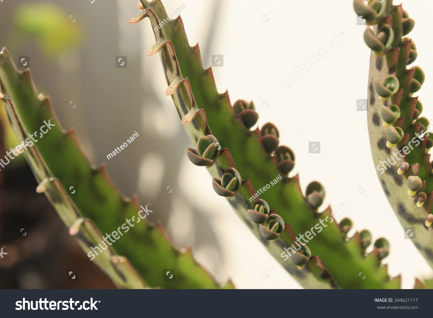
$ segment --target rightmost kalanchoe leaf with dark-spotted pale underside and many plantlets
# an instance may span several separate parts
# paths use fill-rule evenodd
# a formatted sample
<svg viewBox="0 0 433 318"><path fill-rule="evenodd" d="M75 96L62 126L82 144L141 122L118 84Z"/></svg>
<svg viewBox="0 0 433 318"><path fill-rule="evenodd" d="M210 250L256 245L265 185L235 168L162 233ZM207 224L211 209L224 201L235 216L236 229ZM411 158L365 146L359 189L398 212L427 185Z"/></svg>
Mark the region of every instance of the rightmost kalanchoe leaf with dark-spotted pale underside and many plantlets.
<svg viewBox="0 0 433 318"><path fill-rule="evenodd" d="M382 6L385 3L387 1ZM429 138L432 125L426 117L420 117L423 104L417 96L413 96L423 85L425 74L419 66L407 68L418 56L414 41L406 37L414 28L414 19L409 17L401 4L395 6L392 1L388 3L390 6L384 6L381 14L375 16L371 10L369 15L363 16L366 23L373 26L366 31L369 34L383 38L380 33L385 24L392 26L394 32L391 46L379 55L373 51L370 57L368 133L385 195L402 226L416 227L416 238L411 241L433 267L433 230L430 222L433 174L428 153L433 146L433 140ZM359 16L368 6L381 8L375 0L368 3L354 0L353 6ZM366 43L371 47L370 42ZM383 125L380 118L384 121ZM375 243L379 258L388 255L389 246L385 242L385 239L380 239ZM419 284L423 285L422 282ZM426 280L426 285L430 284Z"/></svg>

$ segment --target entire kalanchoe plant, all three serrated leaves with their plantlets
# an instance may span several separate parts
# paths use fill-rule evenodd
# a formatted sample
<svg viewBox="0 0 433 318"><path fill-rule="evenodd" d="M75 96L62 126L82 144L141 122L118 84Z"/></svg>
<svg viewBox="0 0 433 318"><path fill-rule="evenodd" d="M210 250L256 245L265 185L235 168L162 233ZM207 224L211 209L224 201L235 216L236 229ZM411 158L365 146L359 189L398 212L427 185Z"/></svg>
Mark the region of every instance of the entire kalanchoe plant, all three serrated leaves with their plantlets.
<svg viewBox="0 0 433 318"><path fill-rule="evenodd" d="M420 133L420 129L427 129L427 122L423 117L419 118L422 105L417 108L417 97L411 96L423 84L425 77L419 68L406 70L408 57L417 56L416 46L411 44L410 39L401 39L413 28L414 23L402 7L393 6L391 0L355 0L354 6L355 11L367 19L368 25L375 25L371 32L367 31L369 44L376 49L372 54L368 85L368 124L372 149L375 148L374 158L386 160L385 156L389 156L392 149L408 148L406 144L409 140L422 145L422 151L414 148L410 156L407 153L404 158L407 166L400 165L398 173L395 173L397 168L392 166L385 176L379 178L391 205L399 218L404 220L402 224L421 223L425 227L420 231L420 236L426 238L427 243L419 241L417 247L432 262L432 231L429 232L429 227L433 222L433 195L430 193L433 181L425 181L432 178L429 175L430 157L425 153L427 138L414 136L409 139L415 133ZM129 22L136 23L149 17L156 43L149 49L148 55L159 52L168 84L166 95L172 96L181 124L191 142L197 144L197 149L187 149L187 156L194 164L208 167L213 176L214 190L219 195L228 197L239 217L284 269L305 288L399 288L400 276L391 279L386 265L381 264L389 254L388 241L384 238L376 240L373 251L366 254L365 250L372 241L368 230L356 232L348 238L352 221L343 219L337 224L330 207L318 211L325 196L325 190L319 182L311 182L305 196L302 194L298 175L288 176L294 166L294 153L288 147L278 147L280 136L277 127L266 123L261 129L251 131L250 128L257 121L253 120L257 114L252 113L254 105L239 101L232 107L227 93L217 93L212 70L202 68L198 46L189 46L181 18L171 19L163 28L157 28L167 16L162 3L159 0L142 0L138 8L140 13ZM392 26L392 29L388 26ZM40 122L38 120L51 117L52 111L43 97L35 98L29 73L19 73L12 65L8 55L2 52L0 97L6 103L19 140L23 140L26 133L33 131ZM395 107L391 108L393 105L398 111ZM383 110L384 106L390 107L389 111ZM389 124L385 125L387 127L381 124L382 110L382 119ZM417 122L414 123L414 120ZM137 204L134 207L131 202L119 198L105 178L106 175L100 172L103 169L94 171L88 166L74 143L74 138L71 139L72 133L68 135L58 129L52 135L52 140L47 139L46 143L44 141L44 144L35 146L35 150L26 159L41 182L39 190L45 191L65 224L70 226L70 233L81 239L80 242L87 251L89 242L100 239L95 224L105 231L116 213L122 217L128 216L129 212L137 213ZM224 140L226 149L220 151L216 147L217 140ZM50 157L52 153L55 154ZM71 154L74 169L64 171L56 163ZM414 162L417 159L420 163ZM257 199L258 192L254 187L266 185L281 172L284 178L273 185L272 191L266 191L267 187L257 188L258 191L262 190L261 199ZM418 173L422 177L418 178ZM85 180L84 187L89 194L100 195L105 199L102 204L110 211L111 219L107 219L105 213L93 211L91 205L86 205L91 201L89 196L72 200L65 195L65 183L77 178ZM417 200L406 194L406 184ZM110 207L113 202L117 205ZM266 225L262 224L265 222ZM324 222L328 223L326 230ZM140 246L142 250L159 256L162 253L157 252L164 251L161 261L165 264L182 264L178 277L188 284L186 287L215 287L210 277L203 275L203 271L189 256L185 258L172 249L166 240L161 239L163 235L159 227L155 230L146 224L142 231L129 242L123 240L124 243L119 248L128 254L131 264L143 277L150 276L145 277L151 282L149 286L158 286L158 282L152 281L153 276L149 275L158 266L152 267L152 260L130 253L131 246ZM299 240L295 233L299 233ZM145 239L142 239L143 235ZM304 240L308 238L308 247L301 242L301 237ZM116 280L118 286L146 286L126 258L114 254L111 249L107 255L109 257L101 259L98 264ZM286 262L287 260L290 261ZM361 272L365 274L365 279L359 279ZM417 286L421 284L417 281ZM426 281L426 286L429 284L433 285L433 282Z"/></svg>

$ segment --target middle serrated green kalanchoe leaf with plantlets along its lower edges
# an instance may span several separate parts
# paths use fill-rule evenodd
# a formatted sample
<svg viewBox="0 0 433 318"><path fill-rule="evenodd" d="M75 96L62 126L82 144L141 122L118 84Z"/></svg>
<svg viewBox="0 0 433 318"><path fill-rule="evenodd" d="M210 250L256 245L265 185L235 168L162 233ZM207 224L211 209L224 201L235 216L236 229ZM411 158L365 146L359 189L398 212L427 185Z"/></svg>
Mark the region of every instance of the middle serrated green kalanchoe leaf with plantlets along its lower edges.
<svg viewBox="0 0 433 318"><path fill-rule="evenodd" d="M208 169L213 178L220 181L218 183L214 179L214 188L227 194L226 187L230 187L234 175L222 176L229 168L236 169L242 175L243 180L239 177L239 190L228 200L271 255L305 288L399 288L400 277L390 279L386 265L381 267L377 248L365 254L359 233L345 240L339 225L334 222L330 207L320 212L317 210L325 195L323 187L309 189L306 195L308 200L301 193L298 176L288 176L294 156L284 148L278 152L280 136L277 127L267 123L261 129L249 130L249 125L236 115L240 114L238 106L236 110L231 106L228 94L218 94L212 69L202 68L198 45L189 46L181 18L171 19L164 28L157 28L167 16L162 3L159 0L142 0L138 7L142 11L129 22L137 23L149 17L156 39L149 52L159 52L168 84L166 94L173 98L191 142L197 143L210 131L218 140L224 140L226 149L221 150L215 164ZM372 3L368 10L372 19L378 20L388 14L387 8L390 7L391 1L385 0L383 3ZM391 83L387 88L388 84L384 86L392 92L395 86ZM242 107L245 108L243 103ZM277 156L277 152L283 156ZM266 191L263 185L281 172L284 178L280 182L274 180L272 191ZM228 182L224 182L225 178ZM257 188L258 193L255 187L259 186L262 188ZM258 194L271 209L278 211L284 221L273 216L265 226L257 225L250 219L248 210L256 211L253 202ZM272 214L271 211L269 213ZM329 225L323 230L319 225L325 221ZM282 228L281 222L285 222L284 229L277 233ZM308 247L299 244L293 230L300 236L313 237ZM261 231L265 236L279 236L270 242L262 238ZM360 272L365 274L365 279L359 279Z"/></svg>

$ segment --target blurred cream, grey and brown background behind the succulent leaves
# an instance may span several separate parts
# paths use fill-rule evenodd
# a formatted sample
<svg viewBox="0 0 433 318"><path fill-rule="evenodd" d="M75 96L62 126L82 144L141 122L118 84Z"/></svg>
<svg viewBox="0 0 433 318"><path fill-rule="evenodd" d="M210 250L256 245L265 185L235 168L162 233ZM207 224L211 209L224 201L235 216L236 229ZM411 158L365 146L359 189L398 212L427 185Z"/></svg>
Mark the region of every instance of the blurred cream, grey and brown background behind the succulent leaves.
<svg viewBox="0 0 433 318"><path fill-rule="evenodd" d="M0 46L16 64L18 56L30 58L39 92L51 97L62 127L75 128L90 163L106 162L122 194L136 193L142 204L150 203L150 217L162 221L174 246L191 247L217 281L231 279L245 289L301 288L214 193L206 169L187 159L191 143L165 96L159 56L145 55L155 42L149 19L128 23L139 12L137 2L3 0ZM204 68L212 55L223 55L223 65L213 67L219 92L228 90L232 104L254 101L258 126L271 121L278 127L281 144L296 155L290 176L300 172L303 191L320 181L326 187L322 209L342 204L354 222L349 236L368 228L373 240L386 237L391 253L385 263L391 276L402 274L403 288L412 288L416 276L431 278L432 269L411 240L404 240L383 194L366 112L357 111L357 100L367 98L370 50L352 1L162 2L168 12L184 6L180 15L190 45L199 43ZM433 3L411 0L404 8L416 21L410 36L419 53L416 64L426 73L419 96L423 116L431 118L433 43L427 13ZM282 77L339 34L345 42L283 91ZM115 67L117 55L127 56L126 68ZM16 139L3 106L0 114L1 153L16 146ZM107 154L135 131L139 137L131 147L108 160ZM320 153L308 153L309 141L320 142ZM0 171L0 245L9 253L0 260L0 288L115 288L69 236L45 195L36 193L35 178L19 158ZM66 269L77 269L78 282L66 280Z"/></svg>

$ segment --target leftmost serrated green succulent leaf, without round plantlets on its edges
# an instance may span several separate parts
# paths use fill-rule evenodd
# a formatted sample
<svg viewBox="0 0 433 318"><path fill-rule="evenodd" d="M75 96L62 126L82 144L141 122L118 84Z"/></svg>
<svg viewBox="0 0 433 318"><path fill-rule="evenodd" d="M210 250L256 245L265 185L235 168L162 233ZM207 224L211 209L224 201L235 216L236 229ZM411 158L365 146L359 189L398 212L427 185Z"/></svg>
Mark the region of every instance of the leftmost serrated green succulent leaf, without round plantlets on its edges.
<svg viewBox="0 0 433 318"><path fill-rule="evenodd" d="M13 131L18 141L29 147L24 156L39 182L36 191L45 193L84 252L93 253L91 247L103 241L104 233L122 226L122 237L93 260L116 286L219 288L194 262L191 252L175 250L159 225L152 227L142 220L143 210L149 213L148 206L140 209L135 196L123 198L108 178L104 164L99 169L90 167L74 131L65 133L60 128L48 98L37 95L30 71L18 71L6 49L0 52L0 89ZM39 132L44 120L47 133L35 136L38 142L30 146L29 133ZM78 196L67 195L68 184L79 185ZM126 219L133 222L129 230L123 227ZM164 280L165 268L176 270L175 284Z"/></svg>

